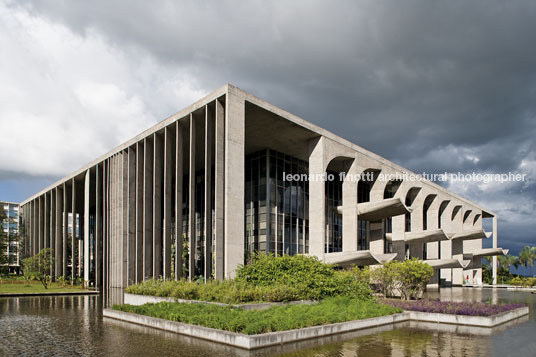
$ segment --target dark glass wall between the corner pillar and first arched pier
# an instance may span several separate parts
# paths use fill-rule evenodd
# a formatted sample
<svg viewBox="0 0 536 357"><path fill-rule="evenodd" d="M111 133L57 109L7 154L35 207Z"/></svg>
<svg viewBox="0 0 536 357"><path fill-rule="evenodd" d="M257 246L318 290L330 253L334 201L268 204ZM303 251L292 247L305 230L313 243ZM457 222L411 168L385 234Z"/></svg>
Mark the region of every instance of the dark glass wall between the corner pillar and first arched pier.
<svg viewBox="0 0 536 357"><path fill-rule="evenodd" d="M284 175L309 172L307 162L273 150L246 156L245 250L274 255L309 253L309 184Z"/></svg>

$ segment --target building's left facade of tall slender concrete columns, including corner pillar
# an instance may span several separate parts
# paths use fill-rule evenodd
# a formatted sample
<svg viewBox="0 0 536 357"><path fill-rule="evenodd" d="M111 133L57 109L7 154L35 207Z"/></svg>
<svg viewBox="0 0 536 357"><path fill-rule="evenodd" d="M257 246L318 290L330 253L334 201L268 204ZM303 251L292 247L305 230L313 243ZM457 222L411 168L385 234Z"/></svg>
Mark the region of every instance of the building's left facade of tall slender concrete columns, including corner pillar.
<svg viewBox="0 0 536 357"><path fill-rule="evenodd" d="M244 151L245 100L231 90L25 203L27 255L51 247L55 278L107 292L233 277L244 262Z"/></svg>

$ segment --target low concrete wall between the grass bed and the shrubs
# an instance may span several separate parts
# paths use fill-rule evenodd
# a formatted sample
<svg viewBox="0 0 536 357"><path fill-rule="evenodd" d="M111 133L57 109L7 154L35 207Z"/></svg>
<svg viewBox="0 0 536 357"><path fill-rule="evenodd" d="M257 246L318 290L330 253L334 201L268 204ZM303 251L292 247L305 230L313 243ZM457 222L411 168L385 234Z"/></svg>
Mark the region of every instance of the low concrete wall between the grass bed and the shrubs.
<svg viewBox="0 0 536 357"><path fill-rule="evenodd" d="M143 305L147 303L159 303L159 302L179 302L185 304L210 304L210 305L219 305L219 306L231 306L237 309L242 310L265 310L269 309L272 306L279 305L299 305L299 304L315 304L316 301L309 300L300 300L300 301L290 301L290 302L264 302L264 303L254 303L254 304L224 304L221 302L211 302L211 301L201 301L201 300L185 300L185 299L175 299L169 297L161 296L150 296L150 295L137 295L137 294L128 294L125 293L123 297L123 303L128 305Z"/></svg>

